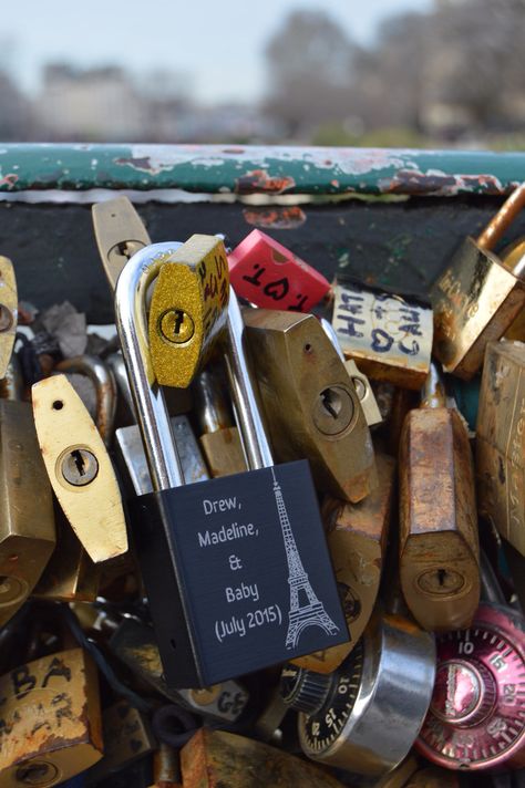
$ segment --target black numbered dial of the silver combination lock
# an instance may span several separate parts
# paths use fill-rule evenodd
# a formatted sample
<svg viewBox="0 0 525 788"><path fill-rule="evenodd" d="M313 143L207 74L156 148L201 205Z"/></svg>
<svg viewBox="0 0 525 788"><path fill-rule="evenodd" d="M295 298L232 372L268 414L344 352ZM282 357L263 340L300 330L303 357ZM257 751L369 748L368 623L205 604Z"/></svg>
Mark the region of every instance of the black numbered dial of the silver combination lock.
<svg viewBox="0 0 525 788"><path fill-rule="evenodd" d="M332 674L327 701L317 714L300 716L301 745L307 755L318 757L341 735L350 717L363 670L362 641L358 643L340 671Z"/></svg>

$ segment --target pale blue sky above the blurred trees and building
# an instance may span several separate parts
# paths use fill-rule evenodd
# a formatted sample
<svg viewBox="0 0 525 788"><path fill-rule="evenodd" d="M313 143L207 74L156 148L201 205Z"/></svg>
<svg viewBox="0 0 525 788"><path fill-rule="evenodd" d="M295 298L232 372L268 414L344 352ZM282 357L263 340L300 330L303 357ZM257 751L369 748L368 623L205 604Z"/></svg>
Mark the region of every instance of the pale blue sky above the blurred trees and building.
<svg viewBox="0 0 525 788"><path fill-rule="evenodd" d="M361 43L379 21L433 0L4 0L0 62L28 90L49 61L186 73L202 101L256 98L262 50L297 8L322 8Z"/></svg>

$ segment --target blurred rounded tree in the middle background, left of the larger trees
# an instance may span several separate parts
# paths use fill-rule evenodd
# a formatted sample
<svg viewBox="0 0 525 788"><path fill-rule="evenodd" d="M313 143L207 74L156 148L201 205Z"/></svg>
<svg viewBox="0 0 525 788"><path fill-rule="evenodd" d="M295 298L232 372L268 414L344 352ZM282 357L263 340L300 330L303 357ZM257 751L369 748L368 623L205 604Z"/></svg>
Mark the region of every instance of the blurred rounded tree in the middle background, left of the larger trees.
<svg viewBox="0 0 525 788"><path fill-rule="evenodd" d="M351 114L357 46L325 11L294 11L268 42L265 110L290 137Z"/></svg>

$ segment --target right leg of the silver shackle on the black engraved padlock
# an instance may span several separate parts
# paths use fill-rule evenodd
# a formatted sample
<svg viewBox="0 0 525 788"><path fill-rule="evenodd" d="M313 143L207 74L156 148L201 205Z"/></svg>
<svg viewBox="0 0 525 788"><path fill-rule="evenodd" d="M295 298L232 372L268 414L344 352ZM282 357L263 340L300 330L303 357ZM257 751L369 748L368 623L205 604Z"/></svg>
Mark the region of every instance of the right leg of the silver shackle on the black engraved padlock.
<svg viewBox="0 0 525 788"><path fill-rule="evenodd" d="M247 353L244 348L244 331L245 324L237 296L230 286L226 323L226 369L246 463L250 470L258 470L259 468L270 468L274 465L274 458L249 373Z"/></svg>

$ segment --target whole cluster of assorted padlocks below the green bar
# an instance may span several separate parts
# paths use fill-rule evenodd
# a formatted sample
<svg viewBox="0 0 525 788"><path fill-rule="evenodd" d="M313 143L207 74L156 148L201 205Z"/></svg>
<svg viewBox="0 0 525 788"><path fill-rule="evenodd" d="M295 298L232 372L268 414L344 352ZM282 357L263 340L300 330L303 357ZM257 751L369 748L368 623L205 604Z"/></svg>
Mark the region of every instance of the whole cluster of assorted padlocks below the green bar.
<svg viewBox="0 0 525 788"><path fill-rule="evenodd" d="M521 785L523 203L431 305L101 203L62 360L0 258L0 788Z"/></svg>

